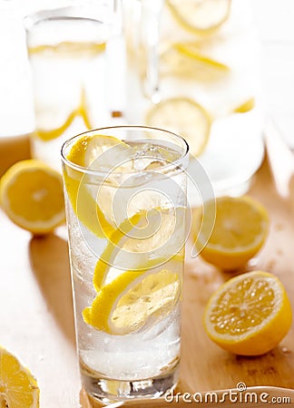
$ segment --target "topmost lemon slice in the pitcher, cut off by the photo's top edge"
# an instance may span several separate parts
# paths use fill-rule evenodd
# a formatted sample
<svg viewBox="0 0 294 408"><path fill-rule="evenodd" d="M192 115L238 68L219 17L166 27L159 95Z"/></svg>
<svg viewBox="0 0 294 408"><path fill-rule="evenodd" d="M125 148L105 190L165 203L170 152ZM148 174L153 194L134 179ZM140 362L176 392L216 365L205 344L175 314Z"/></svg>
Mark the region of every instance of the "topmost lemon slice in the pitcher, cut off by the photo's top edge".
<svg viewBox="0 0 294 408"><path fill-rule="evenodd" d="M171 14L183 28L210 34L230 15L230 0L166 0Z"/></svg>

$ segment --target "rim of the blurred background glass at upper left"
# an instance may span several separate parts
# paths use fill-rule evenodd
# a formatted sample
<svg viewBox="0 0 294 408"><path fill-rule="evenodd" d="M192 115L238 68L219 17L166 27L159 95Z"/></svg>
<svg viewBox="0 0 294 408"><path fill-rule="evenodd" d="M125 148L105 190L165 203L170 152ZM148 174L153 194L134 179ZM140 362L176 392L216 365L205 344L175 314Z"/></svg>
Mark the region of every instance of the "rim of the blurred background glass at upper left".
<svg viewBox="0 0 294 408"><path fill-rule="evenodd" d="M58 21L58 20L92 20L94 22L102 22L101 15L98 16L93 13L93 5L67 5L64 7L48 8L33 12L29 15L25 15L23 23L25 31L30 32L35 24L45 21Z"/></svg>

